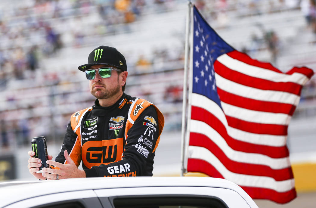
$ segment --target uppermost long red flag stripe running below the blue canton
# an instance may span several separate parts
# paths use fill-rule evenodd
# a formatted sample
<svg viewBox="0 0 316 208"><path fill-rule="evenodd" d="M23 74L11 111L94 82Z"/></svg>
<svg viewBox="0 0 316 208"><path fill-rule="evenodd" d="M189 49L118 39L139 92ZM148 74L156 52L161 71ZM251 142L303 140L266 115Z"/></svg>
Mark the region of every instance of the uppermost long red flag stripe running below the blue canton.
<svg viewBox="0 0 316 208"><path fill-rule="evenodd" d="M222 136L222 138L225 139L228 146L230 146L234 150L263 154L272 158L282 158L289 156L289 150L286 148L286 146L272 147L267 145L251 144L232 138L228 135L227 130L225 126L222 124L222 122L216 116L214 116L212 113L208 112L204 108L192 106L191 119L203 121L204 123L211 126L216 132L218 132Z"/></svg>

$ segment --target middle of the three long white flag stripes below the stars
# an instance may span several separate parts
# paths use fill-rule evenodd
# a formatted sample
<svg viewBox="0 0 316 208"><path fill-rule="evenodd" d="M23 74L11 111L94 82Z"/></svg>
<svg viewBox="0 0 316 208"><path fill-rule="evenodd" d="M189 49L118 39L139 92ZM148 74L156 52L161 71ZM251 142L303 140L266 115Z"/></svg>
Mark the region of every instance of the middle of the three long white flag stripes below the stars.
<svg viewBox="0 0 316 208"><path fill-rule="evenodd" d="M290 166L289 157L271 158L263 154L233 150L230 146L228 146L225 139L222 138L222 136L218 132L216 132L211 126L204 123L203 121L191 120L190 132L196 132L206 135L232 161L266 165L272 169L283 169Z"/></svg>

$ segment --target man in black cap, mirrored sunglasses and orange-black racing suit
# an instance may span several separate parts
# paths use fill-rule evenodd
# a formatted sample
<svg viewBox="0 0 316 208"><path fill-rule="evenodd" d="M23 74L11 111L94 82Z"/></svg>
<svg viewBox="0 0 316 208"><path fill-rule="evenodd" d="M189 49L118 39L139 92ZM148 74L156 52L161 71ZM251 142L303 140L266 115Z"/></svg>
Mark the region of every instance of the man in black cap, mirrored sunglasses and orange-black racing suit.
<svg viewBox="0 0 316 208"><path fill-rule="evenodd" d="M152 103L126 95L127 68L115 48L100 46L78 67L85 72L97 99L94 106L71 115L61 151L43 168L34 158L29 172L40 180L79 177L152 176L155 150L164 125L162 113ZM78 169L82 160L83 170Z"/></svg>

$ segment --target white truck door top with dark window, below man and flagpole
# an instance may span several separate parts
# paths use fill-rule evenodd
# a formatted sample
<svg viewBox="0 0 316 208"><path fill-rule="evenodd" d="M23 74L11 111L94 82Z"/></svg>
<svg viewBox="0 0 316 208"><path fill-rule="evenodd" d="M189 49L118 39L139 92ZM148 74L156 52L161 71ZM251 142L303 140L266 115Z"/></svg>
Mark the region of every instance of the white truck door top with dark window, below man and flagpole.
<svg viewBox="0 0 316 208"><path fill-rule="evenodd" d="M218 187L129 187L95 189L103 207L243 207L250 208L243 197L234 190ZM163 197L163 198L160 198ZM169 197L169 198L168 198ZM171 198L170 198L171 197ZM180 197L177 198L177 197ZM115 202L114 202L115 199ZM202 200L203 199L203 200ZM205 199L205 200L204 200ZM217 200L216 200L217 199ZM149 204L156 201L155 204ZM220 201L221 203L216 203ZM145 204L146 202L146 204ZM162 203L163 202L163 203ZM167 203L168 202L168 203ZM170 203L169 203L170 202ZM174 204L173 204L174 202ZM182 203L185 202L185 203ZM194 204L190 204L194 202ZM196 203L200 202L200 203ZM202 203L203 202L203 203ZM137 204L138 203L138 204ZM110 206L107 206L110 204Z"/></svg>

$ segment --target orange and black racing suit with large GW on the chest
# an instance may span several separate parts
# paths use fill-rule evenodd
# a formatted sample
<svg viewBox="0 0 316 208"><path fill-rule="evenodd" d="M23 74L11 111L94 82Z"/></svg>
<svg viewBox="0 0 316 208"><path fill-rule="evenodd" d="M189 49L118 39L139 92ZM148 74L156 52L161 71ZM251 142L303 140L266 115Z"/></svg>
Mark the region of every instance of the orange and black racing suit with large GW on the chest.
<svg viewBox="0 0 316 208"><path fill-rule="evenodd" d="M55 161L64 150L87 177L152 176L164 117L155 105L123 93L110 107L94 106L72 114Z"/></svg>

